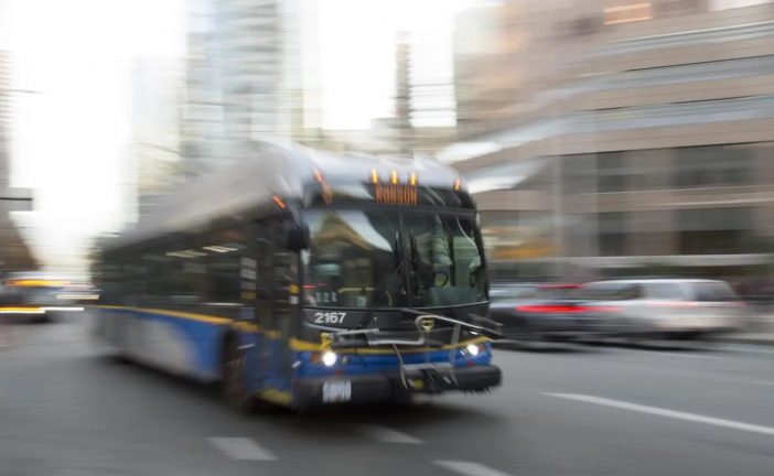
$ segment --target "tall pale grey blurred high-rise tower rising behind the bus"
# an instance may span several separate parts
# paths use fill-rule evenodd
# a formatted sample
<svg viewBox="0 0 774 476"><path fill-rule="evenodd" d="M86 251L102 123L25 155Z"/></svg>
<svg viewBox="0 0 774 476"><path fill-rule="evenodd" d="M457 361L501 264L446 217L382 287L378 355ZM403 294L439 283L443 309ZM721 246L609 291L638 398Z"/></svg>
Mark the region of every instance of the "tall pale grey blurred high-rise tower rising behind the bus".
<svg viewBox="0 0 774 476"><path fill-rule="evenodd" d="M297 0L190 3L183 155L193 173L250 140L295 136L302 100Z"/></svg>

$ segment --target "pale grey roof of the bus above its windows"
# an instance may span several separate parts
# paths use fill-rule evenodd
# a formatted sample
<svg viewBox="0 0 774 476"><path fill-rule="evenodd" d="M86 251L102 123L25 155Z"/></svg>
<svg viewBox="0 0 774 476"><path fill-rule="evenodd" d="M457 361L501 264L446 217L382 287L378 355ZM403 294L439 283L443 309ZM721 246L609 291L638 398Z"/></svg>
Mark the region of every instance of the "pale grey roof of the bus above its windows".
<svg viewBox="0 0 774 476"><path fill-rule="evenodd" d="M313 150L292 143L251 141L237 160L221 171L186 183L164 195L136 227L105 241L117 249L166 234L203 226L230 214L243 213L273 196L301 198L315 170L331 183L366 182L376 170L381 181L396 171L401 182L416 172L422 185L451 188L456 171L431 158L384 158Z"/></svg>

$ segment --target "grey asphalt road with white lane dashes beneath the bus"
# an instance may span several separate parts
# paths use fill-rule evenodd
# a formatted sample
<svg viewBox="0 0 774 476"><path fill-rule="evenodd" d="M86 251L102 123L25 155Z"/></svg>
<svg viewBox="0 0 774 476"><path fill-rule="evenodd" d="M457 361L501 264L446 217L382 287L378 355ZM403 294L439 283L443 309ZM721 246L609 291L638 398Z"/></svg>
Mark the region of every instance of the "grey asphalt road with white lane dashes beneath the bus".
<svg viewBox="0 0 774 476"><path fill-rule="evenodd" d="M0 331L0 475L774 475L774 347L497 350L490 394L245 416L88 318Z"/></svg>

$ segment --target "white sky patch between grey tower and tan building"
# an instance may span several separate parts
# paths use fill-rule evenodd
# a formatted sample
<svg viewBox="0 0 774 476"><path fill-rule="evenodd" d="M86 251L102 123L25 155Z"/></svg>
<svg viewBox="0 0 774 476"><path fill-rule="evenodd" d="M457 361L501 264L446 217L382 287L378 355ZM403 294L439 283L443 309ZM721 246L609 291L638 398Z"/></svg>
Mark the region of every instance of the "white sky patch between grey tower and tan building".
<svg viewBox="0 0 774 476"><path fill-rule="evenodd" d="M372 119L393 113L398 32L408 33L412 43L415 80L450 84L452 21L473 0L321 0L318 3L323 58L322 122L331 129L367 129Z"/></svg>

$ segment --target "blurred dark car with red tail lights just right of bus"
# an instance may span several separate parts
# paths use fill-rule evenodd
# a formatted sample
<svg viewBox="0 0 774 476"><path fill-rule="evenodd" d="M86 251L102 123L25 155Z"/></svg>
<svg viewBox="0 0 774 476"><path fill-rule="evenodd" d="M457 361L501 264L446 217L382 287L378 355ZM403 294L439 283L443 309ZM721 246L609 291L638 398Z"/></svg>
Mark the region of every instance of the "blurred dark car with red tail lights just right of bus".
<svg viewBox="0 0 774 476"><path fill-rule="evenodd" d="M576 299L578 284L493 285L490 317L504 340L570 342L600 334L599 318Z"/></svg>

